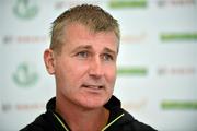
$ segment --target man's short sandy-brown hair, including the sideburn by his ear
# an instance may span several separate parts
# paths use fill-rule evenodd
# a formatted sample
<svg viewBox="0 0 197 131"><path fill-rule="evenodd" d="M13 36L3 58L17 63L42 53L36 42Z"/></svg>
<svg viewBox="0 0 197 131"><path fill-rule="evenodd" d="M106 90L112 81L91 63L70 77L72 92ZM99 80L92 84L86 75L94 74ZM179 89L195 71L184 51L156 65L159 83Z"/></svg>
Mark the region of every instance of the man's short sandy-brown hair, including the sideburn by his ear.
<svg viewBox="0 0 197 131"><path fill-rule="evenodd" d="M120 32L117 20L102 8L92 4L70 8L53 22L50 49L61 52L63 29L66 25L72 22L83 24L93 32L114 32L118 39L118 51Z"/></svg>

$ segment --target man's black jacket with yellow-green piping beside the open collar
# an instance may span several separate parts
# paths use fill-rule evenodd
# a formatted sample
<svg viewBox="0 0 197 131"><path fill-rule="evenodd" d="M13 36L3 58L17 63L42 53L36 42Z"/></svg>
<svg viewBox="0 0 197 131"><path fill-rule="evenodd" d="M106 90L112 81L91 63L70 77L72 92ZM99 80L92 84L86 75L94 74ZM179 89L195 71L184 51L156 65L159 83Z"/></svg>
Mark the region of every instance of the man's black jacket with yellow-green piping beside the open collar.
<svg viewBox="0 0 197 131"><path fill-rule="evenodd" d="M63 119L55 112L55 104L56 98L54 97L47 103L47 111L20 131L70 131ZM130 114L120 108L120 102L115 96L112 96L105 108L111 114L104 131L155 131L150 126L137 121Z"/></svg>

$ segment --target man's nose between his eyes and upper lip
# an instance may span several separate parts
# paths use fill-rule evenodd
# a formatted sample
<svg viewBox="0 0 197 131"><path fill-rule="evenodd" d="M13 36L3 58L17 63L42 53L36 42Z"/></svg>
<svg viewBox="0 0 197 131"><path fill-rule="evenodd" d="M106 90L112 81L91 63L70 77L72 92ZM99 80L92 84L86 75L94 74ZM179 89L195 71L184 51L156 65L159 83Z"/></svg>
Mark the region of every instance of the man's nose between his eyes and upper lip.
<svg viewBox="0 0 197 131"><path fill-rule="evenodd" d="M100 57L92 58L90 62L91 62L90 70L89 70L90 76L101 78L102 75L104 75L104 69L103 69L102 60L100 59Z"/></svg>

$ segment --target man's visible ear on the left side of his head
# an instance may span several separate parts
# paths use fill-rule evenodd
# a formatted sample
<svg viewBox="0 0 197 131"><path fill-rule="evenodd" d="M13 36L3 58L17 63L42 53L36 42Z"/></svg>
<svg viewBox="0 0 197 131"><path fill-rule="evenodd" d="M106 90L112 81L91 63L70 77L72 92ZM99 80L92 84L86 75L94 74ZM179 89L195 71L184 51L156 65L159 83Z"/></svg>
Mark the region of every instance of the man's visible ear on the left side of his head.
<svg viewBox="0 0 197 131"><path fill-rule="evenodd" d="M45 67L49 74L55 73L55 58L54 58L54 51L51 49L46 49L44 52L44 61Z"/></svg>

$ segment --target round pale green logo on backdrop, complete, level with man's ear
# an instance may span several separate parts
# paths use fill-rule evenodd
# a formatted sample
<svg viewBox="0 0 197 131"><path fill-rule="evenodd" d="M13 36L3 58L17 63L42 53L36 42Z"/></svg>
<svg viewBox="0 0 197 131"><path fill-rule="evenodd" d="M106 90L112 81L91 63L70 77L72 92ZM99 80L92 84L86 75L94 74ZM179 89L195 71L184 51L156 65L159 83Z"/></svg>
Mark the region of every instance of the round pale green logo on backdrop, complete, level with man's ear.
<svg viewBox="0 0 197 131"><path fill-rule="evenodd" d="M16 67L13 73L13 81L19 86L32 86L37 83L38 74L32 64L23 62Z"/></svg>

